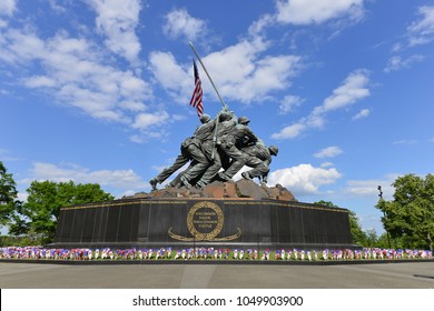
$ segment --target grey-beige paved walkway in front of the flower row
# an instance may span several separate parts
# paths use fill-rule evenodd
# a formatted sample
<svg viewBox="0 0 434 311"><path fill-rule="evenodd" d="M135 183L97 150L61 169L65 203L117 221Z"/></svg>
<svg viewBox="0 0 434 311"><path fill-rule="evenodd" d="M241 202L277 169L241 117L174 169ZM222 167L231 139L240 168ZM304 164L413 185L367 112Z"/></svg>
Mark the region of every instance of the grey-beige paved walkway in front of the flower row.
<svg viewBox="0 0 434 311"><path fill-rule="evenodd" d="M0 262L1 289L433 289L434 262L63 265Z"/></svg>

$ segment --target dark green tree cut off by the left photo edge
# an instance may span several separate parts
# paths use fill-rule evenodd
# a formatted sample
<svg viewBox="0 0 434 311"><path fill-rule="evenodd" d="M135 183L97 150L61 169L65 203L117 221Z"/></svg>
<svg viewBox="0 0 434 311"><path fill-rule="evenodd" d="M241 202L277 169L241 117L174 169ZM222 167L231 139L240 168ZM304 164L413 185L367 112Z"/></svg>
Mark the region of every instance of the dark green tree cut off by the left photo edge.
<svg viewBox="0 0 434 311"><path fill-rule="evenodd" d="M11 173L8 173L0 161L0 224L8 224L13 215L16 205L19 203L17 184Z"/></svg>

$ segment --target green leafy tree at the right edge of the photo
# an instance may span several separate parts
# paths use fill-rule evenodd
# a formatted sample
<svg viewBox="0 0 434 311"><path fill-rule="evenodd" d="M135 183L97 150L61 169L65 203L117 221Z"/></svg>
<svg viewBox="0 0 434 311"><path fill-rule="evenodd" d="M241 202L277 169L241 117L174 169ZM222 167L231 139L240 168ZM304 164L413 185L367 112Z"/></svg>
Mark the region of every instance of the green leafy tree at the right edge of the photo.
<svg viewBox="0 0 434 311"><path fill-rule="evenodd" d="M384 228L405 248L430 248L434 237L434 175L415 174L397 178L392 184L392 201L381 199L377 208L384 212Z"/></svg>

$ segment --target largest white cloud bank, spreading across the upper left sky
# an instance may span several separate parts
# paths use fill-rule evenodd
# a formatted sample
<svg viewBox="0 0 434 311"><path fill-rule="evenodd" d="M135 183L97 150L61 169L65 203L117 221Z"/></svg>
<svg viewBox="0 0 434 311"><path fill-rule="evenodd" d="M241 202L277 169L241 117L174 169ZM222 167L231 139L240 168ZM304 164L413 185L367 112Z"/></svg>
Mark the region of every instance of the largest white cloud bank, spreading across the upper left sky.
<svg viewBox="0 0 434 311"><path fill-rule="evenodd" d="M39 74L19 78L24 87L43 88L45 94L92 118L129 123L129 113L144 110L142 101L151 97L149 84L102 59L89 41L63 32L43 40L32 32L10 29L0 42L0 60L20 68L41 68Z"/></svg>

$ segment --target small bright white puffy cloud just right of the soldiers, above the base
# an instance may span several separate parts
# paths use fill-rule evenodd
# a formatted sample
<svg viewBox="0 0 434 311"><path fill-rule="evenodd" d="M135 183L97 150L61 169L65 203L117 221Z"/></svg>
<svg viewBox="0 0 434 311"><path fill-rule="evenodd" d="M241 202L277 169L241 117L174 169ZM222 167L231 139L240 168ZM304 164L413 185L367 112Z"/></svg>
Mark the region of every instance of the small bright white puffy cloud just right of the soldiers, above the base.
<svg viewBox="0 0 434 311"><path fill-rule="evenodd" d="M315 168L312 164L299 164L287 169L276 170L269 173L269 184L282 184L295 193L295 195L314 194L319 187L332 184L341 178L335 168Z"/></svg>

